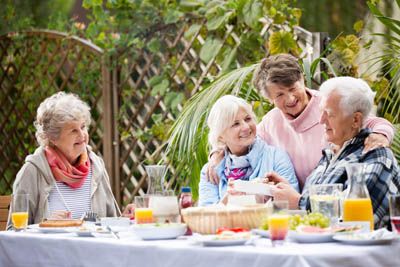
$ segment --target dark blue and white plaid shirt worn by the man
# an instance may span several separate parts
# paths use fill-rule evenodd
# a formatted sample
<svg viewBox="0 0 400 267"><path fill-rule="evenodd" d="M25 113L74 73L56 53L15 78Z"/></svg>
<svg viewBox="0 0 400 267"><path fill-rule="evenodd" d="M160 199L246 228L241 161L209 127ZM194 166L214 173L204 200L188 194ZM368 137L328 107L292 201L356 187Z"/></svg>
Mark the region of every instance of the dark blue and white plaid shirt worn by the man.
<svg viewBox="0 0 400 267"><path fill-rule="evenodd" d="M375 229L388 225L389 194L399 194L400 173L393 153L388 148L377 148L363 154L364 141L370 134L369 129L363 129L353 139L343 145L336 156L332 150L323 150L323 156L311 175L307 178L299 206L310 209L308 188L312 184L343 184L348 186L346 164L365 163L367 168L364 178L374 210Z"/></svg>

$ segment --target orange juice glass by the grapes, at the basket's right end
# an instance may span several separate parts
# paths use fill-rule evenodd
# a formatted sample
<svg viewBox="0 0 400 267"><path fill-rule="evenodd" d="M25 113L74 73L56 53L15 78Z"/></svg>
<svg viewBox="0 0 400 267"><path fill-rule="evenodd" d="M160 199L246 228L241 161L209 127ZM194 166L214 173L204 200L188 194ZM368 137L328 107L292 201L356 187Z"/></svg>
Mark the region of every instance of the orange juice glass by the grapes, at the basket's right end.
<svg viewBox="0 0 400 267"><path fill-rule="evenodd" d="M268 216L269 235L272 245L283 244L289 231L289 203L286 200L272 202L272 214Z"/></svg>

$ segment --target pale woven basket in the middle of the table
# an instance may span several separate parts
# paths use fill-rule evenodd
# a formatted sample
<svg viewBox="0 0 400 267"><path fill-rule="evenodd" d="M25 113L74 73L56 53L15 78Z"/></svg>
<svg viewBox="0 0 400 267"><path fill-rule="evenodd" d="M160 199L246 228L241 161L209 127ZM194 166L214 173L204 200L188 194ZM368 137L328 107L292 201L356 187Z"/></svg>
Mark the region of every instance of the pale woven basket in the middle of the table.
<svg viewBox="0 0 400 267"><path fill-rule="evenodd" d="M245 207L191 207L181 212L190 229L200 234L215 234L219 227L257 228L268 214L263 204Z"/></svg>

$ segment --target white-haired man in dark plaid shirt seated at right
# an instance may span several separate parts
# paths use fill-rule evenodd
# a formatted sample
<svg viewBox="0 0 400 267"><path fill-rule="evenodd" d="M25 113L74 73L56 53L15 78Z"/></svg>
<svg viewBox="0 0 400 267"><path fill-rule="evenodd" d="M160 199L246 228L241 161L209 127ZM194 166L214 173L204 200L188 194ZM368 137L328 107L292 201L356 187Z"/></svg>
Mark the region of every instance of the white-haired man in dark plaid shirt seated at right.
<svg viewBox="0 0 400 267"><path fill-rule="evenodd" d="M399 193L400 174L389 148L380 147L363 153L364 141L371 131L362 125L371 112L375 93L365 81L352 77L329 79L321 85L320 92L320 123L325 126L325 137L330 146L322 151L322 158L307 178L302 195L291 190L282 177L275 175L272 177L277 183L274 197L289 199L291 208L309 209L310 185L341 183L347 188L343 162L366 163L369 167L365 180L372 200L374 226L385 226L389 218L388 194Z"/></svg>

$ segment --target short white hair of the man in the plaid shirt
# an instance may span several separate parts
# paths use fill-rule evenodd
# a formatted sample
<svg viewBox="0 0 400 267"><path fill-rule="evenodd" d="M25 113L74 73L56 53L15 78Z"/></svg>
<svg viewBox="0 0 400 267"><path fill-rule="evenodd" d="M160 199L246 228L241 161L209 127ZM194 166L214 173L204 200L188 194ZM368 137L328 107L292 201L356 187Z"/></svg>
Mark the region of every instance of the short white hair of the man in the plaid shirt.
<svg viewBox="0 0 400 267"><path fill-rule="evenodd" d="M374 105L375 92L368 83L353 77L336 77L322 83L319 88L325 97L336 92L341 96L340 107L346 115L361 112L366 118Z"/></svg>

